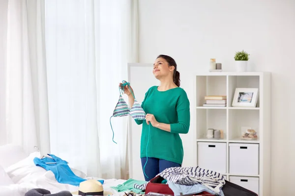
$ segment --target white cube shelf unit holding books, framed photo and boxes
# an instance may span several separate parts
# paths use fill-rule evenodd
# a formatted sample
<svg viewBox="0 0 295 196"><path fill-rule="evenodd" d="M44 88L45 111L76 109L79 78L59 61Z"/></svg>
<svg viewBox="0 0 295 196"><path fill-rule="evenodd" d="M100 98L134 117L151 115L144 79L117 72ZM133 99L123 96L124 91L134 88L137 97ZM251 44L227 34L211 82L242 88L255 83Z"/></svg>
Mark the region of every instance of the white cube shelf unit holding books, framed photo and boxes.
<svg viewBox="0 0 295 196"><path fill-rule="evenodd" d="M266 72L209 72L197 74L195 78L197 164L202 163L203 165L199 166L204 168L207 165L211 168L206 169L211 170L220 168L218 166L225 164L226 170L221 173L228 181L232 179L233 182L235 180L234 183L239 184L237 181L240 179L240 186L244 186L250 190L253 187L252 191L257 192L259 196L270 195L270 76L271 74ZM252 108L232 107L236 88L258 88L257 106ZM203 107L205 96L213 95L226 95L227 106ZM241 140L241 126L254 128L258 132L258 139ZM207 139L206 134L209 128L223 129L224 139ZM224 150L222 146L222 153L220 153L219 149L214 154L214 150L209 149L209 147L215 147L214 144L217 147L217 144L220 143L223 143L223 146L225 144L226 149ZM204 149L203 146L199 147L204 144L207 145L207 149ZM240 146L237 148L237 151L241 153L235 154L237 152L234 146ZM207 150L207 154L200 150ZM253 153L250 151L251 153L249 155L249 150L254 151ZM245 156L241 156L243 153L245 153ZM258 156L258 161L256 155ZM231 156L232 159L230 159ZM244 159L244 164L236 166L233 163L235 161L233 157L235 156L238 159ZM208 164L205 164L206 161ZM212 166L209 163L211 161L214 161L215 165L213 164ZM243 171L242 167L256 167L253 171L257 171L258 167L258 172L252 174L230 172L231 170Z"/></svg>

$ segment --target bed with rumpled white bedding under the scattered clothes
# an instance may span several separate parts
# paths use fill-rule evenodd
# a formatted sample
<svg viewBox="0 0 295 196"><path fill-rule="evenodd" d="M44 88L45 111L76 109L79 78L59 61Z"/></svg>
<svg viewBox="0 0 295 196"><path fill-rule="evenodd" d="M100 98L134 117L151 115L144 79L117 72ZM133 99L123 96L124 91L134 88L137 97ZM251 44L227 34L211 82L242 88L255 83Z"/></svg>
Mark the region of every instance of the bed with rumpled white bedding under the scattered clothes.
<svg viewBox="0 0 295 196"><path fill-rule="evenodd" d="M24 196L34 188L43 188L49 190L52 194L60 191L78 191L79 187L59 183L53 172L35 166L32 160L37 153L39 152L31 153L28 156L21 147L14 145L0 146L0 196ZM71 170L77 176L85 179L100 179L86 176L85 173L73 168ZM105 191L112 192L115 196L123 196L123 192L118 193L111 187L118 186L125 181L122 179L104 179L103 188Z"/></svg>

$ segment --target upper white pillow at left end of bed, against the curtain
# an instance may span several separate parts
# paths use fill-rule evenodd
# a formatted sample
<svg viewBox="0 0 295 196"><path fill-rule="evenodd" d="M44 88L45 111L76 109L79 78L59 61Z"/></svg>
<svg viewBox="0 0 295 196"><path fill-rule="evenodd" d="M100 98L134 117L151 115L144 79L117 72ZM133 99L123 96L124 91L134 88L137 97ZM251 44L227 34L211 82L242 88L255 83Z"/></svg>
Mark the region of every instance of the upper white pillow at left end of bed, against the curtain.
<svg viewBox="0 0 295 196"><path fill-rule="evenodd" d="M13 144L0 146L0 166L4 169L26 158L27 156L28 154L26 154L20 146Z"/></svg>

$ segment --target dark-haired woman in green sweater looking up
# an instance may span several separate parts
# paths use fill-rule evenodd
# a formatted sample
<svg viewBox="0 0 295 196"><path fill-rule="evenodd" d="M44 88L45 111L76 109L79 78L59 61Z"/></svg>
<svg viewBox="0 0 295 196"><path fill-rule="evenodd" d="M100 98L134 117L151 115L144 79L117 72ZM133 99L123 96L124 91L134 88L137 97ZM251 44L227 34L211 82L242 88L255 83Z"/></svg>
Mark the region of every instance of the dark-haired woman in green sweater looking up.
<svg viewBox="0 0 295 196"><path fill-rule="evenodd" d="M159 55L152 73L161 85L152 86L145 95L141 106L147 114L146 120L135 120L137 124L143 124L140 156L146 181L167 168L181 167L183 147L179 134L187 133L190 126L190 103L185 91L179 87L175 60ZM134 97L128 86L124 87L124 92L131 108Z"/></svg>

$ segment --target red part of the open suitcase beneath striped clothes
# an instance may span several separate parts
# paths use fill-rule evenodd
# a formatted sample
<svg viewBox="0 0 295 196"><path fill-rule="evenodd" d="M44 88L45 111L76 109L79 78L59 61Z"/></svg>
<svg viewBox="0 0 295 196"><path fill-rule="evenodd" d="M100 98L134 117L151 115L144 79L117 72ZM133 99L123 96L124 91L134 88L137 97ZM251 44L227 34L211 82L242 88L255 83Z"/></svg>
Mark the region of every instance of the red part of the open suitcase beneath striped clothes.
<svg viewBox="0 0 295 196"><path fill-rule="evenodd" d="M146 195L148 195L149 193L150 193L150 195L152 195L152 193L157 193L157 194L174 196L174 193L169 188L168 184L162 184L163 180L164 180L164 178L161 176L156 176L156 177L152 178L147 184ZM206 191L203 191L201 193L194 194L194 196L214 196L214 195L212 195Z"/></svg>

